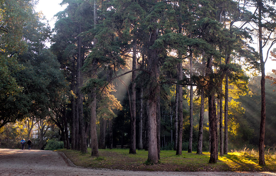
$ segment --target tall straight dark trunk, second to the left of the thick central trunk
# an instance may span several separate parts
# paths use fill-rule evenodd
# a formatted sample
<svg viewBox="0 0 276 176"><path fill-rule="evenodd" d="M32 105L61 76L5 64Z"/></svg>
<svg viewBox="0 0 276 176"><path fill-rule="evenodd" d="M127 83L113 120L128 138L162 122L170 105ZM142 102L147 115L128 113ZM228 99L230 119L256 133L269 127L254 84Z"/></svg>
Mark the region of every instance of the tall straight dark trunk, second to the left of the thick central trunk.
<svg viewBox="0 0 276 176"><path fill-rule="evenodd" d="M137 42L133 42L133 54L132 54L132 70L136 69L136 50ZM136 71L132 71L132 80L131 80L131 138L129 145L129 153L136 154Z"/></svg>

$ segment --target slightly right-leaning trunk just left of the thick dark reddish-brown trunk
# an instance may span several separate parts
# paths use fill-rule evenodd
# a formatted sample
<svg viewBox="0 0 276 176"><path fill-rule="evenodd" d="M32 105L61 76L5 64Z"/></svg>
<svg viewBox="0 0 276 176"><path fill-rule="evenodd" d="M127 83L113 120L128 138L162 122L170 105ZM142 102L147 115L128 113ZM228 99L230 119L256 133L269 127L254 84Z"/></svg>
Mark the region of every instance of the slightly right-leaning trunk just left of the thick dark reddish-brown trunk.
<svg viewBox="0 0 276 176"><path fill-rule="evenodd" d="M200 118L199 118L199 129L198 129L197 154L202 154L203 120L204 120L204 96L205 96L204 90L201 89Z"/></svg>

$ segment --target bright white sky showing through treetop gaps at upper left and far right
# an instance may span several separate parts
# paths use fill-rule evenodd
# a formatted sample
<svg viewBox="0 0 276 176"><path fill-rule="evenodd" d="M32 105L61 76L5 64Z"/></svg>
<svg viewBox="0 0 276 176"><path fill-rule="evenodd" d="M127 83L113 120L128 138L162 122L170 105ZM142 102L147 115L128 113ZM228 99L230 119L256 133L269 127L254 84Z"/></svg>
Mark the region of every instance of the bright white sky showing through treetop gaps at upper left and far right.
<svg viewBox="0 0 276 176"><path fill-rule="evenodd" d="M46 17L46 19L49 21L49 25L51 28L54 28L55 20L53 17L57 12L60 12L66 8L65 5L60 6L60 2L62 0L39 0L39 3L36 6L36 12L42 12L43 15ZM48 45L48 44L47 44ZM50 44L49 44L50 45ZM49 47L49 46L48 46ZM256 50L258 47L258 44L255 44L253 46ZM276 48L276 44L271 48ZM264 58L266 57L267 50L264 48ZM270 54L269 54L270 56ZM270 58L267 59L266 65L265 65L266 73L271 72L272 69L276 69L276 61L271 61Z"/></svg>

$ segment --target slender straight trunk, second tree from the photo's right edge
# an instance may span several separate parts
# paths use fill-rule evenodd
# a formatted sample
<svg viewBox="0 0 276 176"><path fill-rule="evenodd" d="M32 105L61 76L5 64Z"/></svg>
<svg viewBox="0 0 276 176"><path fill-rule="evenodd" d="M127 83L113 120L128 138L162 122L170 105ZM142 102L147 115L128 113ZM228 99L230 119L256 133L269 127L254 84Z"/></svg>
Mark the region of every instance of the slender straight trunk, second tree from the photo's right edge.
<svg viewBox="0 0 276 176"><path fill-rule="evenodd" d="M225 105L224 105L224 154L228 154L228 75L225 74Z"/></svg>

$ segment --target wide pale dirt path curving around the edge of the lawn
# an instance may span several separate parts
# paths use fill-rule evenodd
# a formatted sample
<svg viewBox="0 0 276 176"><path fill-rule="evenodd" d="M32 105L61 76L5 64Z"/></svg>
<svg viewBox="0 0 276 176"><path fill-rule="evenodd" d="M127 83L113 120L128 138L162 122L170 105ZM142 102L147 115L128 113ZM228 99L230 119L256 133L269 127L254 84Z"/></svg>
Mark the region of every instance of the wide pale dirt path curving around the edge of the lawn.
<svg viewBox="0 0 276 176"><path fill-rule="evenodd" d="M274 175L272 172L139 172L100 170L71 167L62 155L54 151L0 149L0 176L2 175Z"/></svg>

